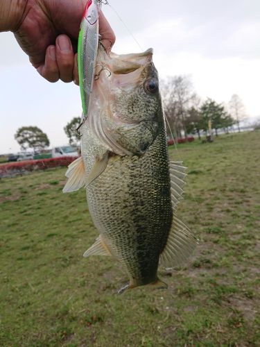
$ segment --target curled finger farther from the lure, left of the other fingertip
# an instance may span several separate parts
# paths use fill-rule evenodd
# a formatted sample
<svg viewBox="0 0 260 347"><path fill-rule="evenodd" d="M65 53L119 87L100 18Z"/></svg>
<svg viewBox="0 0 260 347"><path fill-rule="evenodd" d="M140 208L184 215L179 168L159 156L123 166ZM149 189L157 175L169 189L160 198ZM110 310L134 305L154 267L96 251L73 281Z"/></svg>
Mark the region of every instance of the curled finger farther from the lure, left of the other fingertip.
<svg viewBox="0 0 260 347"><path fill-rule="evenodd" d="M49 82L57 82L59 79L59 68L56 60L55 46L46 49L45 62L37 68L39 74Z"/></svg>

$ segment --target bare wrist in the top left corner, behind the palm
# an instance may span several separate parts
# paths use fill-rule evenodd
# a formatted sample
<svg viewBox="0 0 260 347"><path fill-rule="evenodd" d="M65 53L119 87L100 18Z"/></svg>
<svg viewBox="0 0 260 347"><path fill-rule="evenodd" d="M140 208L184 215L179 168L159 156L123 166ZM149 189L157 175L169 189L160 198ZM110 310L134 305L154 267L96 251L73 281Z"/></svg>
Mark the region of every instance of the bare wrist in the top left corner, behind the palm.
<svg viewBox="0 0 260 347"><path fill-rule="evenodd" d="M0 31L15 31L28 0L0 0Z"/></svg>

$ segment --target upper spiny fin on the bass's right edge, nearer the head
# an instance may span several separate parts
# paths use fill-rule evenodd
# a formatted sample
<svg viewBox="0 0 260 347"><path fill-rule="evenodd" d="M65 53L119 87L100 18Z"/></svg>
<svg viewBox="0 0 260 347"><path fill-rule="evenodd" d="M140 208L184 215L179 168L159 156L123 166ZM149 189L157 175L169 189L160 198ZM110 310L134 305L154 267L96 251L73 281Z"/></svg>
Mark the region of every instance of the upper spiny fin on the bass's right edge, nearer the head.
<svg viewBox="0 0 260 347"><path fill-rule="evenodd" d="M175 210L177 203L182 199L184 180L187 176L185 174L186 169L186 167L182 167L182 162L170 162L171 202L173 210Z"/></svg>

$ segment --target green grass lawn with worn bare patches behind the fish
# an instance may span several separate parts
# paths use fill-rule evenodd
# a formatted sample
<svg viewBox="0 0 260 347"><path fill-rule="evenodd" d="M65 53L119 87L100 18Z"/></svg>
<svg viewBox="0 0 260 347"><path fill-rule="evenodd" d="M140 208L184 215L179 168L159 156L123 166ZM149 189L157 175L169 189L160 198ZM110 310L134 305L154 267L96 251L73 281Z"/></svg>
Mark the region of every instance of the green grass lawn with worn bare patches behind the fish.
<svg viewBox="0 0 260 347"><path fill-rule="evenodd" d="M0 346L259 346L260 133L169 151L201 241L162 271L166 290L116 295L121 265L83 258L97 232L84 189L62 194L65 169L0 180Z"/></svg>

